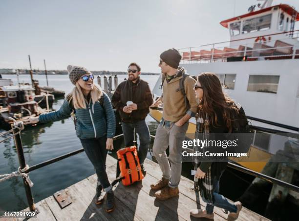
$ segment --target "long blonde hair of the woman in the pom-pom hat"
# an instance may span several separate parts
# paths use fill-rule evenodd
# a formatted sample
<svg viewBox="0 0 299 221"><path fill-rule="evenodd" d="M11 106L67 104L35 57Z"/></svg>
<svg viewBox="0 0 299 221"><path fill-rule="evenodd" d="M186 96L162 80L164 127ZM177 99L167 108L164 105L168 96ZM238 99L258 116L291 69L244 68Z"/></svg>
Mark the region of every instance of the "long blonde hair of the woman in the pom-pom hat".
<svg viewBox="0 0 299 221"><path fill-rule="evenodd" d="M102 95L102 89L99 85L93 82L93 89L90 91L90 97L93 104L95 104ZM78 83L76 82L76 87L74 87L73 91L67 94L66 99L70 104L72 102L72 106L74 109L85 109L86 107L86 99L82 89Z"/></svg>

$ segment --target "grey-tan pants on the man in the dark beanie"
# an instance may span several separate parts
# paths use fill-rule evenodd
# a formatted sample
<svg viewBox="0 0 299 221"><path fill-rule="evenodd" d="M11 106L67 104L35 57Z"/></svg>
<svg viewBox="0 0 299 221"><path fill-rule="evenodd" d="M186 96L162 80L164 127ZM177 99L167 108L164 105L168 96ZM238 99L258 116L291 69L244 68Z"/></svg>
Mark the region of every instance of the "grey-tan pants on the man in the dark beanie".
<svg viewBox="0 0 299 221"><path fill-rule="evenodd" d="M152 147L153 155L158 161L163 177L170 179L169 186L176 187L180 183L182 173L182 142L185 140L189 123L182 127L174 124L167 128L161 124L156 130L155 141ZM166 149L169 146L169 157Z"/></svg>

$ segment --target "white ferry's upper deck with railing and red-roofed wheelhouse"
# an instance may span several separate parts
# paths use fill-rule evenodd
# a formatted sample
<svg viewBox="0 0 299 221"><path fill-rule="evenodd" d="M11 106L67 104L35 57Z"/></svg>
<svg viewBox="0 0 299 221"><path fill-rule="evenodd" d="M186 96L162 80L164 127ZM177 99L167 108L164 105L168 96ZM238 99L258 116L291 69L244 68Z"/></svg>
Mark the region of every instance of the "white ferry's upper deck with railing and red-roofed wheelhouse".
<svg viewBox="0 0 299 221"><path fill-rule="evenodd" d="M287 4L271 6L271 1L258 7L220 22L229 29L230 41L180 49L183 62L299 58L298 11Z"/></svg>

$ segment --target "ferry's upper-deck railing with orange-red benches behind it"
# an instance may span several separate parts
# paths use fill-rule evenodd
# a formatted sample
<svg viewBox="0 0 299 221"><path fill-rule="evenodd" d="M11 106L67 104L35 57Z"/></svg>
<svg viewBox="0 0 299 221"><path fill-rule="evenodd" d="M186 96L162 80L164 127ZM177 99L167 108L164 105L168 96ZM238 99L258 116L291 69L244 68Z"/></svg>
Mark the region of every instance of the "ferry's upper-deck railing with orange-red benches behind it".
<svg viewBox="0 0 299 221"><path fill-rule="evenodd" d="M274 40L265 38L278 34L285 34L286 37ZM299 58L299 43L288 43L291 32L278 34L224 41L199 47L181 48L179 52L182 55L183 64L227 62L230 61L230 58L238 58L237 61ZM255 38L255 41L244 43L244 40L251 38ZM299 30L292 32L292 39L299 40Z"/></svg>

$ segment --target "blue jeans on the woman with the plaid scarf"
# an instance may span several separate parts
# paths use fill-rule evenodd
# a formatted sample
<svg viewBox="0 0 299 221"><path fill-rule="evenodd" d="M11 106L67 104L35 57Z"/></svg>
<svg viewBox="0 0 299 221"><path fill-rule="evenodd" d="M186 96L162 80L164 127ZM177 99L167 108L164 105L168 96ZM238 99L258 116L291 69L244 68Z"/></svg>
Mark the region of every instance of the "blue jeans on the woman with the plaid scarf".
<svg viewBox="0 0 299 221"><path fill-rule="evenodd" d="M235 204L230 203L224 196L219 194L219 178L214 178L214 203L211 203L210 201L206 200L204 197L202 200L207 203L206 210L207 214L212 214L214 210L214 206L217 206L219 208L226 209L230 212L235 213L237 211L237 207Z"/></svg>

